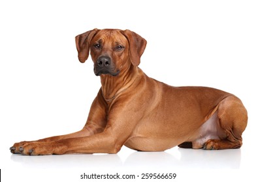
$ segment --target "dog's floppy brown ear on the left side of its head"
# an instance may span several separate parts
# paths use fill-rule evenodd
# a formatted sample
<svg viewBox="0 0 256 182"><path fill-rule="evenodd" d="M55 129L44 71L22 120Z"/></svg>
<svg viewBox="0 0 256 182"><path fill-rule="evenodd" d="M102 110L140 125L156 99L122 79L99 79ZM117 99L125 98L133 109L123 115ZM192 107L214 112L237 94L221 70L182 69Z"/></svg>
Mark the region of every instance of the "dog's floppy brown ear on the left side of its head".
<svg viewBox="0 0 256 182"><path fill-rule="evenodd" d="M78 34L76 36L76 49L78 51L78 59L80 62L84 63L89 57L89 45L91 43L91 39L98 32L98 29L93 29L88 32L84 32L83 34Z"/></svg>

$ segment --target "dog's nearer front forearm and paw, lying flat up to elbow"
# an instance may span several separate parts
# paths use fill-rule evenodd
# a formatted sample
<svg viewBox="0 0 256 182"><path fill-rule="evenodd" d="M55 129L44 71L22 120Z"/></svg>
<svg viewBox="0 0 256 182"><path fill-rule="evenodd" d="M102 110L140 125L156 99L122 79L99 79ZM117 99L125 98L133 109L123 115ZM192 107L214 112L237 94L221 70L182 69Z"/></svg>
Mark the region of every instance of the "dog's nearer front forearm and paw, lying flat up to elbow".
<svg viewBox="0 0 256 182"><path fill-rule="evenodd" d="M123 142L108 132L97 135L66 138L54 142L31 142L20 148L22 155L51 155L65 153L117 153Z"/></svg>

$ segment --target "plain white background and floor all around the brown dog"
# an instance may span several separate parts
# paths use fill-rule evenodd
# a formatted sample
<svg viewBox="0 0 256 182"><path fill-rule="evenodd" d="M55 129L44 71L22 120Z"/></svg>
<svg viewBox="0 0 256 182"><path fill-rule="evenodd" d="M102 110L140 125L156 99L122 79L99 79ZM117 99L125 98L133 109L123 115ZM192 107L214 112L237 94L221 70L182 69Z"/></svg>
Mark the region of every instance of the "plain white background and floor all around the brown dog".
<svg viewBox="0 0 256 182"><path fill-rule="evenodd" d="M177 173L176 181L255 179L255 1L0 2L3 181L85 181L84 172ZM148 45L140 68L150 77L173 86L215 87L242 99L249 113L242 148L12 155L8 148L14 142L84 126L100 80L91 59L78 61L74 36L95 27L130 29L144 37Z"/></svg>

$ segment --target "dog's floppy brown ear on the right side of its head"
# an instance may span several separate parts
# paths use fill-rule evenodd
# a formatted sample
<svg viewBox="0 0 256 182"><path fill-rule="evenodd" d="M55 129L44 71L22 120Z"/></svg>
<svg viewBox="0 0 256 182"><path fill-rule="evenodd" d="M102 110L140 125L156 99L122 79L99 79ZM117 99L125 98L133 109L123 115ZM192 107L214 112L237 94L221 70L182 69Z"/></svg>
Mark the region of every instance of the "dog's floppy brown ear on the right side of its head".
<svg viewBox="0 0 256 182"><path fill-rule="evenodd" d="M129 41L129 53L131 57L131 63L134 66L140 64L140 57L144 53L147 45L147 41L135 32L125 30L123 34Z"/></svg>

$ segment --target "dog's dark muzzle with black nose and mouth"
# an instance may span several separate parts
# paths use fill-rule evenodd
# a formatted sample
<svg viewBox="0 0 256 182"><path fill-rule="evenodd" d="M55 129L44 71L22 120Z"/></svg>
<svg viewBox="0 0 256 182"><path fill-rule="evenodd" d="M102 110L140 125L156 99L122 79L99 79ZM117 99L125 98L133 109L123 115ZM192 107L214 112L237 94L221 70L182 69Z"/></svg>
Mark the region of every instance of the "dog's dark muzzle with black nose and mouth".
<svg viewBox="0 0 256 182"><path fill-rule="evenodd" d="M101 74L110 74L112 76L117 76L120 70L115 71L115 65L110 57L99 57L94 64L94 73L99 76Z"/></svg>

